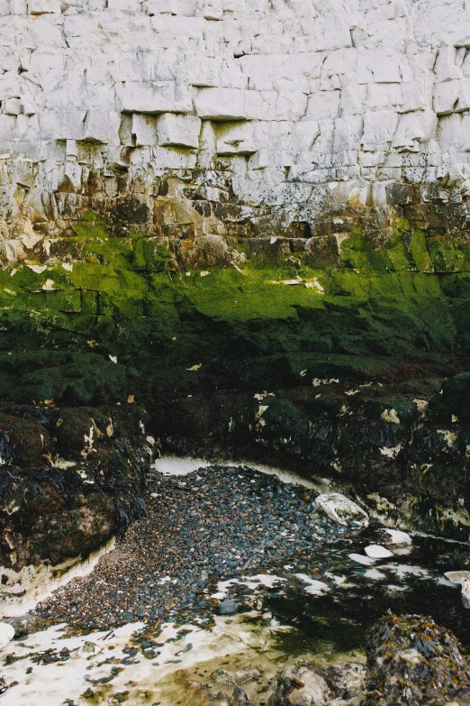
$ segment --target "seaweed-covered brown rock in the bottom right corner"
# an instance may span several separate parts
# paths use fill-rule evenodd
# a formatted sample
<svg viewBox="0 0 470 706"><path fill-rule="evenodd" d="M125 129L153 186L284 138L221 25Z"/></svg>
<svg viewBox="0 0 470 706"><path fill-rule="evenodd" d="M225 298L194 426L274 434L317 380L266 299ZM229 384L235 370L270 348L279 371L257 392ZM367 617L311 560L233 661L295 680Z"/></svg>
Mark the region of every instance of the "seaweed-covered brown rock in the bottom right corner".
<svg viewBox="0 0 470 706"><path fill-rule="evenodd" d="M422 616L386 615L367 636L364 706L470 703L470 671L456 637Z"/></svg>

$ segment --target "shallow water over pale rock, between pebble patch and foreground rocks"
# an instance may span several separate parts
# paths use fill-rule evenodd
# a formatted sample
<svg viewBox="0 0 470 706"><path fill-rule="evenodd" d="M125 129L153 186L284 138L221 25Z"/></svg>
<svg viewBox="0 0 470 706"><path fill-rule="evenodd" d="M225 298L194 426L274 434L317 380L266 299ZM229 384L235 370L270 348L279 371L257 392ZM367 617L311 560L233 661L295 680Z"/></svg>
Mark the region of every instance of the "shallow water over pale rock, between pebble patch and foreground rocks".
<svg viewBox="0 0 470 706"><path fill-rule="evenodd" d="M208 465L199 459L170 458L159 460L156 469L168 475L185 475ZM257 469L276 474L284 482L308 485L292 473ZM313 483L310 487L326 490ZM92 633L66 639L56 626L25 637L23 642L15 640L0 651L4 665L0 676L5 676L7 683L18 684L0 700L29 706L81 702L81 694L91 684L95 694L91 702L98 704L114 703L113 694L127 691L129 703L170 706L182 702L195 706L206 701L201 701L202 692L191 686L191 680L207 680L211 671L221 667L257 666L262 682L267 683L279 668L298 658L319 664L364 661L366 629L387 610L429 614L470 648L470 612L463 607L460 586L444 575L469 568L469 547L413 535L412 546L392 546L392 557L372 565L351 559L350 555L355 554L366 557L365 547L376 543L375 531L372 526L360 532L348 531L332 544L316 543L312 546L314 574L307 575L304 566L293 560L292 564L275 562L262 573L246 573L238 580L225 577L213 588L212 595L219 600L225 595L236 598L245 604L244 613L216 617L211 630L202 630L197 624L176 629L168 623L163 632L158 631L158 637L153 636L162 645L158 657L150 660L140 650L109 683L96 685L97 680L110 674L110 665L121 664L119 660L125 658L130 645L139 647L131 636L134 631L147 632L142 624L116 628L110 635ZM190 632L186 634L185 630ZM86 640L98 644L101 651L95 656L74 653L53 664L34 661L34 654L50 647L59 651L64 645L73 650ZM108 652L110 642L113 649ZM6 657L11 653L20 659L12 662ZM113 663L112 659L117 661Z"/></svg>

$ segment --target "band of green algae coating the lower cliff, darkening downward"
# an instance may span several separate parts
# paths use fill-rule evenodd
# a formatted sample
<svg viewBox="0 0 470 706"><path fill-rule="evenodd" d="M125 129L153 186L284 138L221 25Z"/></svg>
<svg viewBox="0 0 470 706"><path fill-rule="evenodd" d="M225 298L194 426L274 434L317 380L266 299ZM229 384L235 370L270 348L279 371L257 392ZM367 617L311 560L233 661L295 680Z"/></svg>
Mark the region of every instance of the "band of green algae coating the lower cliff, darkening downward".
<svg viewBox="0 0 470 706"><path fill-rule="evenodd" d="M448 450L428 422L421 430L414 401L433 400L446 422L467 415L464 388L438 395L470 355L465 244L400 221L382 238L351 234L323 267L300 253L182 271L162 239L116 237L90 213L60 252L0 270L2 399L87 409L134 396L155 437L178 450L257 446L396 503L405 482L417 526L465 533L425 487L431 477L442 486L447 463L448 502L465 494L466 446ZM276 399L254 399L264 390ZM382 417L390 409L399 424Z"/></svg>

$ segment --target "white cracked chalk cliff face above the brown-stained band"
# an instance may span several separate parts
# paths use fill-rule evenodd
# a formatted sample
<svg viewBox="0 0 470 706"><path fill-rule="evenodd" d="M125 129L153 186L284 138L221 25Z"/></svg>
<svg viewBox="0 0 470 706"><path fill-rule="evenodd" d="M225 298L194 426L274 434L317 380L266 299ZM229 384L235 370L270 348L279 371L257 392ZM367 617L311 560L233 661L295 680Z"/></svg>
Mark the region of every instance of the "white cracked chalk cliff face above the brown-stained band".
<svg viewBox="0 0 470 706"><path fill-rule="evenodd" d="M165 170L228 169L252 206L289 182L369 205L391 181L470 184L469 0L0 0L0 15L4 223L41 220L92 171L113 197L120 168L147 194Z"/></svg>

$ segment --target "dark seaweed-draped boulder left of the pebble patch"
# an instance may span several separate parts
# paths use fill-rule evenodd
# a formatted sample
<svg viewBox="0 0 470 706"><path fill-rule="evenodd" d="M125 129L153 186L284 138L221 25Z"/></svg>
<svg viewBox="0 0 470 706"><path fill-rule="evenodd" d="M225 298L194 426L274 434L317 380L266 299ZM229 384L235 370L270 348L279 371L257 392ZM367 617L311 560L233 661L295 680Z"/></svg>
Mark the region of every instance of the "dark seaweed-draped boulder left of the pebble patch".
<svg viewBox="0 0 470 706"><path fill-rule="evenodd" d="M136 371L94 354L87 361L86 355L18 353L8 364L19 376L8 394L29 402L0 403L0 555L11 572L4 574L7 586L23 566L86 558L140 517L155 448L144 433L147 412L128 394ZM85 401L99 406L72 406Z"/></svg>

